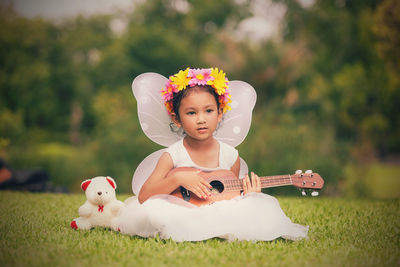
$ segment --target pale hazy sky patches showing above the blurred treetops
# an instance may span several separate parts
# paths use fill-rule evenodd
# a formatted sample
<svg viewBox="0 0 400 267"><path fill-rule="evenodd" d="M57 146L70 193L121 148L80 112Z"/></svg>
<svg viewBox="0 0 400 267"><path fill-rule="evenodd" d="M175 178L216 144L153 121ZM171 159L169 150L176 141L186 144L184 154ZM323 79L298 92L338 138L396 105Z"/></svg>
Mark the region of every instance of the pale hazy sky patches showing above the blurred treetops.
<svg viewBox="0 0 400 267"><path fill-rule="evenodd" d="M13 3L14 9L26 17L41 16L46 19L63 19L78 14L93 15L113 13L114 11L133 10L134 2L143 0L0 0L2 3ZM185 0L172 0L185 2ZM238 0L239 1L239 0ZM313 2L313 0L301 0ZM249 37L252 40L263 40L276 35L286 8L271 0L254 2L254 16L244 20L239 26L238 37Z"/></svg>

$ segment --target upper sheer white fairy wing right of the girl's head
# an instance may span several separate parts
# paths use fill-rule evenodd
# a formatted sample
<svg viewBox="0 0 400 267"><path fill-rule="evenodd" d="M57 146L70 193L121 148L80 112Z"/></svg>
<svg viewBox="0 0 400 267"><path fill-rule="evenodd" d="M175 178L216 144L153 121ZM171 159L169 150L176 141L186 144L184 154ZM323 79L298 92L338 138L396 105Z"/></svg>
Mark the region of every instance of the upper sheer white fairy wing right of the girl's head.
<svg viewBox="0 0 400 267"><path fill-rule="evenodd" d="M230 104L232 110L224 114L215 138L236 147L243 142L249 132L257 94L250 84L242 81L230 81L229 90L232 95Z"/></svg>

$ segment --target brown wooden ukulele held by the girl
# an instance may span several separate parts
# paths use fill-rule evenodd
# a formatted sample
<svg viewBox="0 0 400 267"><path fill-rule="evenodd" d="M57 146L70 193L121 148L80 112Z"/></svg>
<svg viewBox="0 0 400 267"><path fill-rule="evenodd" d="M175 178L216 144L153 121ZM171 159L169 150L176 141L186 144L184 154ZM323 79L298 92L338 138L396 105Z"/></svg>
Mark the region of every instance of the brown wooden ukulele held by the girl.
<svg viewBox="0 0 400 267"><path fill-rule="evenodd" d="M171 171L196 171L195 168L179 167ZM216 201L229 200L240 195L243 190L243 180L238 179L236 175L230 170L217 170L211 172L200 172L199 175L203 177L211 186L211 196L207 199L199 198L196 194L191 193L184 187L179 187L171 193L171 195L188 201L196 206L212 204ZM302 189L302 195L306 195L304 189L312 189L312 196L317 196L318 191L324 186L324 180L318 173L307 171L306 173L296 172L295 174L276 175L260 177L261 188L270 188L284 185L293 185Z"/></svg>

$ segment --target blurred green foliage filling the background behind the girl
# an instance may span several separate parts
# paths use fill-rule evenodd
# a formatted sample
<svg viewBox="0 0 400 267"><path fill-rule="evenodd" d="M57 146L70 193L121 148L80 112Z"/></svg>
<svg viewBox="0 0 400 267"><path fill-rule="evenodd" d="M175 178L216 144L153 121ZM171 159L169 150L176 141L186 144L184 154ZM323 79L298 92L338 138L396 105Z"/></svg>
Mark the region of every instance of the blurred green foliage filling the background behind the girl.
<svg viewBox="0 0 400 267"><path fill-rule="evenodd" d="M0 7L0 156L73 190L111 175L131 192L134 169L159 149L139 127L132 80L215 66L257 90L239 147L251 170L313 169L327 194L371 195L346 165L400 152L398 1L275 0L287 9L281 35L258 43L232 34L253 2L149 0L59 23Z"/></svg>

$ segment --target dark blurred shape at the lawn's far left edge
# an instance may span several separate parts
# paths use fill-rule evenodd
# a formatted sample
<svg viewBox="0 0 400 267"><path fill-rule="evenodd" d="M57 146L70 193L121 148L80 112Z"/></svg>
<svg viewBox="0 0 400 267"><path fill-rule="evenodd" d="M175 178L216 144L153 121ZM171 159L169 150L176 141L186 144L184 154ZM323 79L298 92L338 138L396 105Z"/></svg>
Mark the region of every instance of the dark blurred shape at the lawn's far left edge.
<svg viewBox="0 0 400 267"><path fill-rule="evenodd" d="M65 187L52 184L46 171L39 169L13 170L1 158L0 190L53 193L68 192Z"/></svg>

